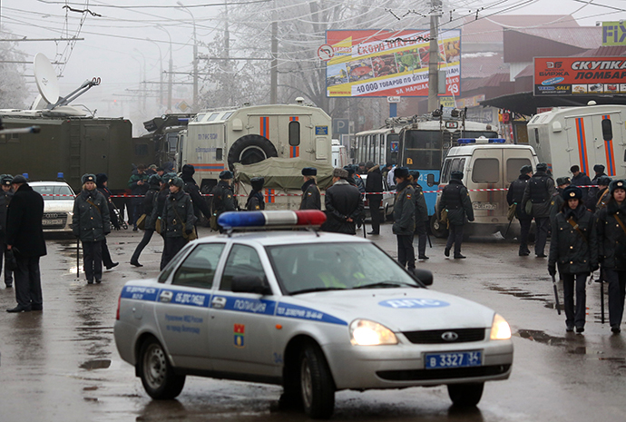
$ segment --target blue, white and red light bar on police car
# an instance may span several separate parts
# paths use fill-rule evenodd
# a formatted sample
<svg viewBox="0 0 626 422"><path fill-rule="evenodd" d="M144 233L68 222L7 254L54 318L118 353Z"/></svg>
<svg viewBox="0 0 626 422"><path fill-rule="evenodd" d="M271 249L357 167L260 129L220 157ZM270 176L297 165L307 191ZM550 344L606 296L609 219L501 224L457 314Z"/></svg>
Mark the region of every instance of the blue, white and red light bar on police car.
<svg viewBox="0 0 626 422"><path fill-rule="evenodd" d="M226 229L270 226L320 226L326 214L318 210L302 211L228 211L220 214L218 224Z"/></svg>

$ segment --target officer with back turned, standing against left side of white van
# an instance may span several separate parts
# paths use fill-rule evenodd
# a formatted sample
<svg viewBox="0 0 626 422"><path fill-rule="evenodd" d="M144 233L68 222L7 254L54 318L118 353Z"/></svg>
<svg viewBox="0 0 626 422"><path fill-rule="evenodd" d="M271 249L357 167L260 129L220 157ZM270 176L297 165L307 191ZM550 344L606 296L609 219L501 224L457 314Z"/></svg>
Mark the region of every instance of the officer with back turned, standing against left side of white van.
<svg viewBox="0 0 626 422"><path fill-rule="evenodd" d="M474 208L469 197L469 192L463 182L463 172L450 173L450 182L441 193L437 211L439 215L444 210L448 213L448 240L445 244L444 254L450 256L450 249L455 245L455 259L464 259L461 254L461 244L463 243L463 226L466 221L474 221ZM441 220L441 217L439 218Z"/></svg>

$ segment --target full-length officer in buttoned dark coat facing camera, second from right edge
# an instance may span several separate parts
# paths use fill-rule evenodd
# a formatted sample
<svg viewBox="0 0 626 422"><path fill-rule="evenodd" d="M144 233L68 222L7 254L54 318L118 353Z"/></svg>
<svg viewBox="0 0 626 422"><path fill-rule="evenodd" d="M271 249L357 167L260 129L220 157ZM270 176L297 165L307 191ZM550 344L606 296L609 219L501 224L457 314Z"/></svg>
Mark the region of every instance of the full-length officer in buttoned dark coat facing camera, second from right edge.
<svg viewBox="0 0 626 422"><path fill-rule="evenodd" d="M576 332L582 333L586 310L585 280L598 269L598 237L595 217L582 202L582 189L569 186L562 191L562 199L561 211L552 225L548 272L555 276L558 264L563 280L566 330L571 332L575 326Z"/></svg>

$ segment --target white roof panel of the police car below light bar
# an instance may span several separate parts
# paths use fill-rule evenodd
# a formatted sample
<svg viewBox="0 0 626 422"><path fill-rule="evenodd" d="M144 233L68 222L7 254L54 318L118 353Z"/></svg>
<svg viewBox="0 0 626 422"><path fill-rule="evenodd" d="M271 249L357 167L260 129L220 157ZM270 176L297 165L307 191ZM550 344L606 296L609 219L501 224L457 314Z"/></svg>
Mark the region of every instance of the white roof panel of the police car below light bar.
<svg viewBox="0 0 626 422"><path fill-rule="evenodd" d="M340 233L328 233L326 231L246 231L233 232L229 237L226 234L202 238L202 243L215 239L220 240L244 240L258 243L262 246L305 244L305 243L329 243L329 242L370 242L370 240Z"/></svg>

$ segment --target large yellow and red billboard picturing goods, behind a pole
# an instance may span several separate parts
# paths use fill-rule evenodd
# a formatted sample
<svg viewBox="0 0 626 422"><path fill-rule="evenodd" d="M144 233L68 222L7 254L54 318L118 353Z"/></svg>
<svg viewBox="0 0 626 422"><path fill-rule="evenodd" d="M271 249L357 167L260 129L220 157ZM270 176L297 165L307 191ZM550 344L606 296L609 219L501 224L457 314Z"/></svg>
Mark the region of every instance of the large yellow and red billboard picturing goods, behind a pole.
<svg viewBox="0 0 626 422"><path fill-rule="evenodd" d="M327 31L328 97L428 96L428 30ZM438 36L445 95L461 93L461 30Z"/></svg>

